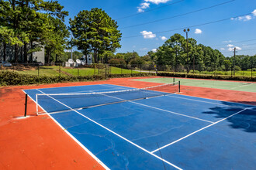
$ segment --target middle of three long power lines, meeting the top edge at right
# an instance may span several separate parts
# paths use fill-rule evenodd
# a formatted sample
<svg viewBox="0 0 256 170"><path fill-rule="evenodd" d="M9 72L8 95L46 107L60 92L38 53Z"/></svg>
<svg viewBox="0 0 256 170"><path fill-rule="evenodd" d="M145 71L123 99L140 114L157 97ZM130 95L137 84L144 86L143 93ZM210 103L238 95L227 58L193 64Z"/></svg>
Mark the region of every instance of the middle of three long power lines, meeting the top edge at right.
<svg viewBox="0 0 256 170"><path fill-rule="evenodd" d="M144 22L144 23L141 23L141 24L133 25L133 26L121 27L120 29L128 29L128 28L133 28L133 27L137 27L137 26L144 26L144 25L147 25L147 24L150 24L150 23L154 23L154 22L161 22L161 21L164 21L164 20L167 20L167 19L174 19L174 18L177 18L179 16L189 15L189 14L192 14L192 13L195 13L195 12L201 12L201 11L204 11L206 9L215 8L217 6L225 5L227 3L234 2L234 1L235 0L231 0L231 1L228 1L228 2L223 2L223 3L217 4L217 5L209 6L209 7L206 7L206 8L201 8L201 9L198 9L198 10L195 10L195 11L192 11L192 12L186 12L184 14L171 16L171 17L168 17L168 18L165 18L165 19L157 19L157 20L154 20L154 21L151 21L151 22Z"/></svg>

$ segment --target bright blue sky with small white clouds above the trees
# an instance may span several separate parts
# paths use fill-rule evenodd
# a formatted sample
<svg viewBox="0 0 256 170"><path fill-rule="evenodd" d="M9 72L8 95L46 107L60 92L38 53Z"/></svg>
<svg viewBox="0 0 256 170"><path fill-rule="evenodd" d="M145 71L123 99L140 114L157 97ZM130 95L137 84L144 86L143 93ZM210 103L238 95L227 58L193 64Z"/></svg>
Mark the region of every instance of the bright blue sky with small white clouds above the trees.
<svg viewBox="0 0 256 170"><path fill-rule="evenodd" d="M191 29L189 37L196 39L198 43L219 49L225 56L233 56L234 46L238 49L237 54L256 54L255 0L60 0L59 2L64 5L64 10L69 12L65 21L67 26L68 19L74 19L74 15L81 10L91 8L105 10L117 21L119 30L123 34L122 47L117 53L134 50L143 56L148 51L157 49L165 39L175 33L185 36L183 28L188 27ZM222 3L225 4L220 5ZM214 5L217 6L213 7ZM195 12L202 8L207 9ZM188 12L193 13L184 15ZM182 16L166 19L177 15ZM244 16L234 18L239 15ZM159 19L165 20L136 26ZM215 22L222 19L227 20ZM197 26L208 22L215 23ZM129 26L134 27L126 28ZM176 30L164 32L173 29Z"/></svg>

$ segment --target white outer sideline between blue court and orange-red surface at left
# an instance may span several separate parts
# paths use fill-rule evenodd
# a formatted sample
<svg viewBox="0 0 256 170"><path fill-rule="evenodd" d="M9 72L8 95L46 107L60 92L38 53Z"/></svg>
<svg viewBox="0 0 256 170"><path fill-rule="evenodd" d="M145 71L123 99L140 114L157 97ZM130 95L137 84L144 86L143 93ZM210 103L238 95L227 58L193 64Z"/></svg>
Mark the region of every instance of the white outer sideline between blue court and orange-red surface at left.
<svg viewBox="0 0 256 170"><path fill-rule="evenodd" d="M37 89L36 89L36 90L37 90ZM22 91L23 91L24 93L26 93L24 90L22 90ZM40 90L39 90L39 91L40 91ZM28 96L29 96L29 95L28 95ZM30 98L31 100L33 100L32 97L29 96L29 98ZM33 100L33 101L36 103L35 100ZM40 104L38 104L38 106L39 106L42 110L44 110L43 107L40 106ZM77 144L78 144L79 146L81 146L81 148L83 148L83 149L88 153L88 155L92 156L92 158L94 158L95 161L99 163L99 165L102 165L103 168L105 168L105 169L107 169L107 170L110 170L110 168L108 168L103 162L101 162L101 161L99 160L99 158L97 158L95 155L93 155L92 152L88 150L88 148L86 148L84 145L82 145L80 141L78 141L76 138L74 138L74 136L73 136L72 134L70 134L68 131L66 131L66 129L65 129L61 124L59 124L59 123L54 119L54 117L52 117L50 114L48 114L46 110L44 110L44 112L45 112L45 113L46 113L46 114L47 114L64 132L66 132L67 135L69 135L75 142L77 142Z"/></svg>

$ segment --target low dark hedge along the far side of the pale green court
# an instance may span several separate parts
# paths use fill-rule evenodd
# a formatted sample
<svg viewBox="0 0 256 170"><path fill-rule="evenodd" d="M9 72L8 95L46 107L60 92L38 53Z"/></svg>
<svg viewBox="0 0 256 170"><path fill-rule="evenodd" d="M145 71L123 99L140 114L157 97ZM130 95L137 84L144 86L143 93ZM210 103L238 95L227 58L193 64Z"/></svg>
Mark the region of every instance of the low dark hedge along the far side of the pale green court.
<svg viewBox="0 0 256 170"><path fill-rule="evenodd" d="M256 81L256 76L225 76L208 74L186 74L186 73L157 73L157 76L184 77L195 79L214 79L214 80L237 80L237 81Z"/></svg>

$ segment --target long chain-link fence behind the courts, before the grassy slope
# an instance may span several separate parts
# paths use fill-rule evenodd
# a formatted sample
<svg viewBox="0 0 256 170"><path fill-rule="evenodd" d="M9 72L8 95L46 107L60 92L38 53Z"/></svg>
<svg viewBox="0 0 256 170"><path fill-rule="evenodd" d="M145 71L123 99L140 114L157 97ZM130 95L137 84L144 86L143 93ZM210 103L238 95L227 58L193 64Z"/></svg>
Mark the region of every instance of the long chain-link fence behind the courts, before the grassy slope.
<svg viewBox="0 0 256 170"><path fill-rule="evenodd" d="M0 66L0 70L9 70L21 74L33 76L93 76L102 75L106 77L114 76L140 76L143 74L155 73L176 73L188 74L186 66L178 65L154 65L154 64L91 64L91 65L71 65L65 66L64 63L51 63L43 65L42 63L12 63L12 66ZM189 75L212 75L212 76L244 76L255 77L256 68L249 70L240 70L235 67L225 70L216 69L214 66L210 68L202 68L195 65L189 68Z"/></svg>

